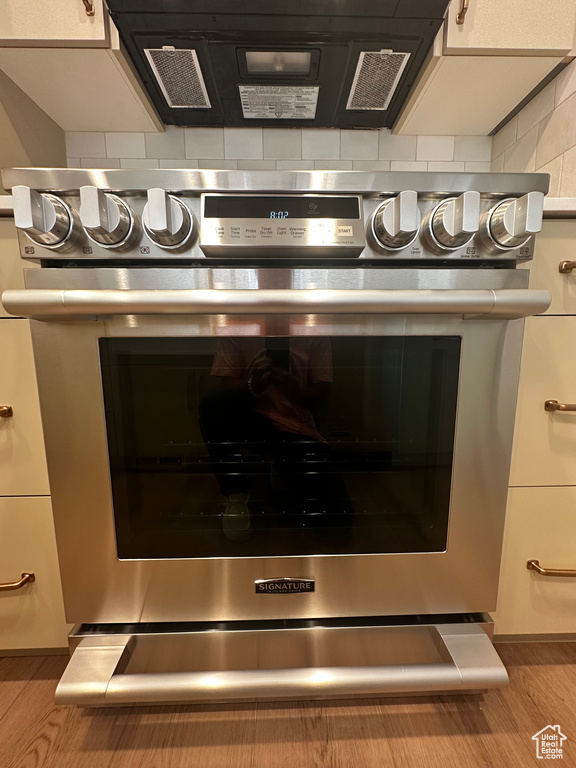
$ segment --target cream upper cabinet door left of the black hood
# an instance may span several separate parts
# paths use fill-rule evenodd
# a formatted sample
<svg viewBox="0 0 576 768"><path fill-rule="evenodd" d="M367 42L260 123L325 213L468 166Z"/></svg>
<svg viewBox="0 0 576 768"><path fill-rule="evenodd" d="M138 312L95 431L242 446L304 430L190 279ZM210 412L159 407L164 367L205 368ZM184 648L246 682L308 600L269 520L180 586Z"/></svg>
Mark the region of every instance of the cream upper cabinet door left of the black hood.
<svg viewBox="0 0 576 768"><path fill-rule="evenodd" d="M0 46L106 46L107 17L102 0L90 0L88 16L82 0L2 0Z"/></svg>

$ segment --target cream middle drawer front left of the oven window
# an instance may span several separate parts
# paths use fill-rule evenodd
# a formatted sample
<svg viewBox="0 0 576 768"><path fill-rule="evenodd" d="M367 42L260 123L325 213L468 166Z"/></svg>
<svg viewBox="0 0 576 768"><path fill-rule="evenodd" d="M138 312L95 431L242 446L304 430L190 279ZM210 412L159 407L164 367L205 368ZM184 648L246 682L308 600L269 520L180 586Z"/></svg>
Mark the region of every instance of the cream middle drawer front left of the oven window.
<svg viewBox="0 0 576 768"><path fill-rule="evenodd" d="M27 320L0 319L0 405L13 415L0 418L0 495L50 493L32 340Z"/></svg>

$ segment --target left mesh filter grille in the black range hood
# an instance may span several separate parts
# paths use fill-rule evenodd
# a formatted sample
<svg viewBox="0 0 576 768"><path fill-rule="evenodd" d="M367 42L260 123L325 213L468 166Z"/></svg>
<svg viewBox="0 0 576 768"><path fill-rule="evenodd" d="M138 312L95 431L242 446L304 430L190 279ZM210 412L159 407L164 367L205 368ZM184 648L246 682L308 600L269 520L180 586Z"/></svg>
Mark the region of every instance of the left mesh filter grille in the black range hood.
<svg viewBox="0 0 576 768"><path fill-rule="evenodd" d="M196 51L173 46L144 50L164 98L171 107L209 109L206 84Z"/></svg>

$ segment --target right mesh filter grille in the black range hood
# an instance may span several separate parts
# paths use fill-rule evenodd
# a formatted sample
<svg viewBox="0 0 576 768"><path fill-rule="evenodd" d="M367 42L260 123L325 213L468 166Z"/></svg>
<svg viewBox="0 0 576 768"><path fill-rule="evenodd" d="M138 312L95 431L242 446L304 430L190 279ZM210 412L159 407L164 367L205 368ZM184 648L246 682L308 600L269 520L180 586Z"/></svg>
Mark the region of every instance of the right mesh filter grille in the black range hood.
<svg viewBox="0 0 576 768"><path fill-rule="evenodd" d="M346 109L388 109L409 57L395 51L362 51Z"/></svg>

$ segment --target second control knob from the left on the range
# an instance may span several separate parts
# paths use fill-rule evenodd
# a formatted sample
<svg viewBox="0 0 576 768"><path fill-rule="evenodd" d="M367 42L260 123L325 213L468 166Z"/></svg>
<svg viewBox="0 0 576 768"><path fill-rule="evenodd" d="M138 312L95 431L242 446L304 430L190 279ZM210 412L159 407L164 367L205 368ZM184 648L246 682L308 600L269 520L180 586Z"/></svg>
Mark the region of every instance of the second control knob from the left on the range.
<svg viewBox="0 0 576 768"><path fill-rule="evenodd" d="M126 203L98 187L80 187L80 218L88 237L104 248L127 248L138 235Z"/></svg>

